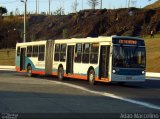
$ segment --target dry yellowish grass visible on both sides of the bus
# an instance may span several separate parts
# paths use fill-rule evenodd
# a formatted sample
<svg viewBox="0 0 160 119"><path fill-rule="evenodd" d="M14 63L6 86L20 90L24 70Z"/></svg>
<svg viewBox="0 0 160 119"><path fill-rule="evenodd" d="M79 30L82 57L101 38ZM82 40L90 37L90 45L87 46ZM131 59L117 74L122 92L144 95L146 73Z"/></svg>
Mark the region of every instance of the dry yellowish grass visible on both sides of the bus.
<svg viewBox="0 0 160 119"><path fill-rule="evenodd" d="M147 56L147 72L160 72L160 35L155 35L155 38L145 36L146 56ZM9 52L8 52L9 51ZM1 49L0 50L0 65L15 65L15 50Z"/></svg>

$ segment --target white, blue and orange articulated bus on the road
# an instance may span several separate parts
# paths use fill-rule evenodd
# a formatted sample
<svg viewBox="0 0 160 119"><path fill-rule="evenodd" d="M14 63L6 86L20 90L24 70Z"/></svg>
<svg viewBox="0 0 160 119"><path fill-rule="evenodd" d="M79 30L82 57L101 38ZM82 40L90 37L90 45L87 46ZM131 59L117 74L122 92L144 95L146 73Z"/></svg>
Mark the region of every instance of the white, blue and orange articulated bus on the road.
<svg viewBox="0 0 160 119"><path fill-rule="evenodd" d="M95 82L145 81L143 39L127 36L17 43L16 70Z"/></svg>

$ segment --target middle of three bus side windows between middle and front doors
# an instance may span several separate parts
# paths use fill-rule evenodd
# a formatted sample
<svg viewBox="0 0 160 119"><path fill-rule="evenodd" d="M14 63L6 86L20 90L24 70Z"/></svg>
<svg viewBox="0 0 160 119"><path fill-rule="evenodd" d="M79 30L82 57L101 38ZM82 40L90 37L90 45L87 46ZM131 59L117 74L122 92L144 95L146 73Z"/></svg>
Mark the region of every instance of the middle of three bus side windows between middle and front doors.
<svg viewBox="0 0 160 119"><path fill-rule="evenodd" d="M89 52L90 52L90 44L89 43L83 44L83 57L82 57L83 63L89 63Z"/></svg>

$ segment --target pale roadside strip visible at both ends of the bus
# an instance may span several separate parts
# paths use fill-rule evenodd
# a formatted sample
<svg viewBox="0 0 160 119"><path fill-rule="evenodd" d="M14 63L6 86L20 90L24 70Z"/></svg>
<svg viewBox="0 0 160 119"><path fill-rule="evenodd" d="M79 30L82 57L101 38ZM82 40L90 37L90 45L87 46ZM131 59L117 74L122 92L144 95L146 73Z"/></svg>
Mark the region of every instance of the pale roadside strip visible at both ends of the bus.
<svg viewBox="0 0 160 119"><path fill-rule="evenodd" d="M3 65L0 65L0 70L12 70L12 71L15 71L15 66L3 66ZM160 78L160 73L146 72L146 77Z"/></svg>

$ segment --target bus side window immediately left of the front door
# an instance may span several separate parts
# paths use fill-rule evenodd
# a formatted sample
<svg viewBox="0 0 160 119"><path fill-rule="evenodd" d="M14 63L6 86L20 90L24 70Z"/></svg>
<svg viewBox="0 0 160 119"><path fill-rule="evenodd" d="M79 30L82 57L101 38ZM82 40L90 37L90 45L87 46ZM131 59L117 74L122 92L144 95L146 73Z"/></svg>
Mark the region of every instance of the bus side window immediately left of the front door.
<svg viewBox="0 0 160 119"><path fill-rule="evenodd" d="M91 47L91 53L90 53L90 63L93 63L93 64L98 63L98 52L99 52L99 44L93 43Z"/></svg>

